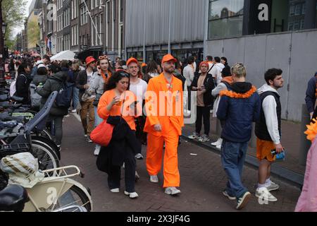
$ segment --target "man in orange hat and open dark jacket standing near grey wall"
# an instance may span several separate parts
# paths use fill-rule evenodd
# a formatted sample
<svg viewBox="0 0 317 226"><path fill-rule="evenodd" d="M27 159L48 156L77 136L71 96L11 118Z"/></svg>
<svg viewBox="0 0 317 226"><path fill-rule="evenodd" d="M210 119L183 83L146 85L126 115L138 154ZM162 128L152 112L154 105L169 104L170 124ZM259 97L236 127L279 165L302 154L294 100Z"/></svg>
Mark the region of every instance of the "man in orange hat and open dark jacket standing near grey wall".
<svg viewBox="0 0 317 226"><path fill-rule="evenodd" d="M192 85L190 86L192 91L197 92L197 119L196 119L196 131L189 136L191 139L198 139L200 142L210 141L210 110L213 105L213 96L211 90L215 88L213 77L208 73L209 64L207 61L202 61L199 65L201 73L195 76ZM201 121L204 120L204 135L200 136Z"/></svg>

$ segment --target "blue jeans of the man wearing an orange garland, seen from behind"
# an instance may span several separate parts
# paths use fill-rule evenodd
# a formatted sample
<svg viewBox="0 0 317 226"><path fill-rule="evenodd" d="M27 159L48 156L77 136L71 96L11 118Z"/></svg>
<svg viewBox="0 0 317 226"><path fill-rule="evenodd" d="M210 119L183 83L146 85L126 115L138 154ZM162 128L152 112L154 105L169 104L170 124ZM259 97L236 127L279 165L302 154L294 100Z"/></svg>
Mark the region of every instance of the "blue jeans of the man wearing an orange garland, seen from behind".
<svg viewBox="0 0 317 226"><path fill-rule="evenodd" d="M228 175L226 191L230 196L240 198L247 189L242 184L242 168L247 153L248 143L235 143L223 140L221 163Z"/></svg>

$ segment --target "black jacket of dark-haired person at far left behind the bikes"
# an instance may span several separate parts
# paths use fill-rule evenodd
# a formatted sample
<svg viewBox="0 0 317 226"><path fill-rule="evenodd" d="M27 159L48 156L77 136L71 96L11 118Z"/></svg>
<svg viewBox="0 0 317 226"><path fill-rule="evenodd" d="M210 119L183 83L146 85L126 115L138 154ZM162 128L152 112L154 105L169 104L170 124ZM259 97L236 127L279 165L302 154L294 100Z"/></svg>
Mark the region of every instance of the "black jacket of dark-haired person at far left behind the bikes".
<svg viewBox="0 0 317 226"><path fill-rule="evenodd" d="M32 78L30 75L20 73L18 78L16 78L15 95L18 97L23 97L23 104L30 105L30 83Z"/></svg>

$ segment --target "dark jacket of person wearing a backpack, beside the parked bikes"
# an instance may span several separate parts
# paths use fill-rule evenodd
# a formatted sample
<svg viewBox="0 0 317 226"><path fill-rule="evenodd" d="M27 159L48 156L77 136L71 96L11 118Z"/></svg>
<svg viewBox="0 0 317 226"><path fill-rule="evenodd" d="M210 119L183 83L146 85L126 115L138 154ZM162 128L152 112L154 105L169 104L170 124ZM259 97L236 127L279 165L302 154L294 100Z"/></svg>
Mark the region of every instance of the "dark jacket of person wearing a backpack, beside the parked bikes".
<svg viewBox="0 0 317 226"><path fill-rule="evenodd" d="M42 96L41 108L45 105L47 98L52 92L61 90L63 83L66 83L67 81L67 76L67 71L59 71L53 76L50 76L42 88L37 88L37 93ZM68 108L58 107L54 102L49 114L54 116L64 116L68 114Z"/></svg>

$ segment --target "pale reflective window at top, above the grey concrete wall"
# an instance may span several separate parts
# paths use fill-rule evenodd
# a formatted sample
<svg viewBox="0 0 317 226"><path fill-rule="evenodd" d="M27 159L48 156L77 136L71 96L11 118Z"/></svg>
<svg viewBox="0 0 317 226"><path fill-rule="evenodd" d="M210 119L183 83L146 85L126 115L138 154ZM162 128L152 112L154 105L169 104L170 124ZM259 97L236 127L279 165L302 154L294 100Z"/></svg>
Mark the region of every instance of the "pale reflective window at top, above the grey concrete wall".
<svg viewBox="0 0 317 226"><path fill-rule="evenodd" d="M243 8L244 0L209 0L209 39L241 36Z"/></svg>

